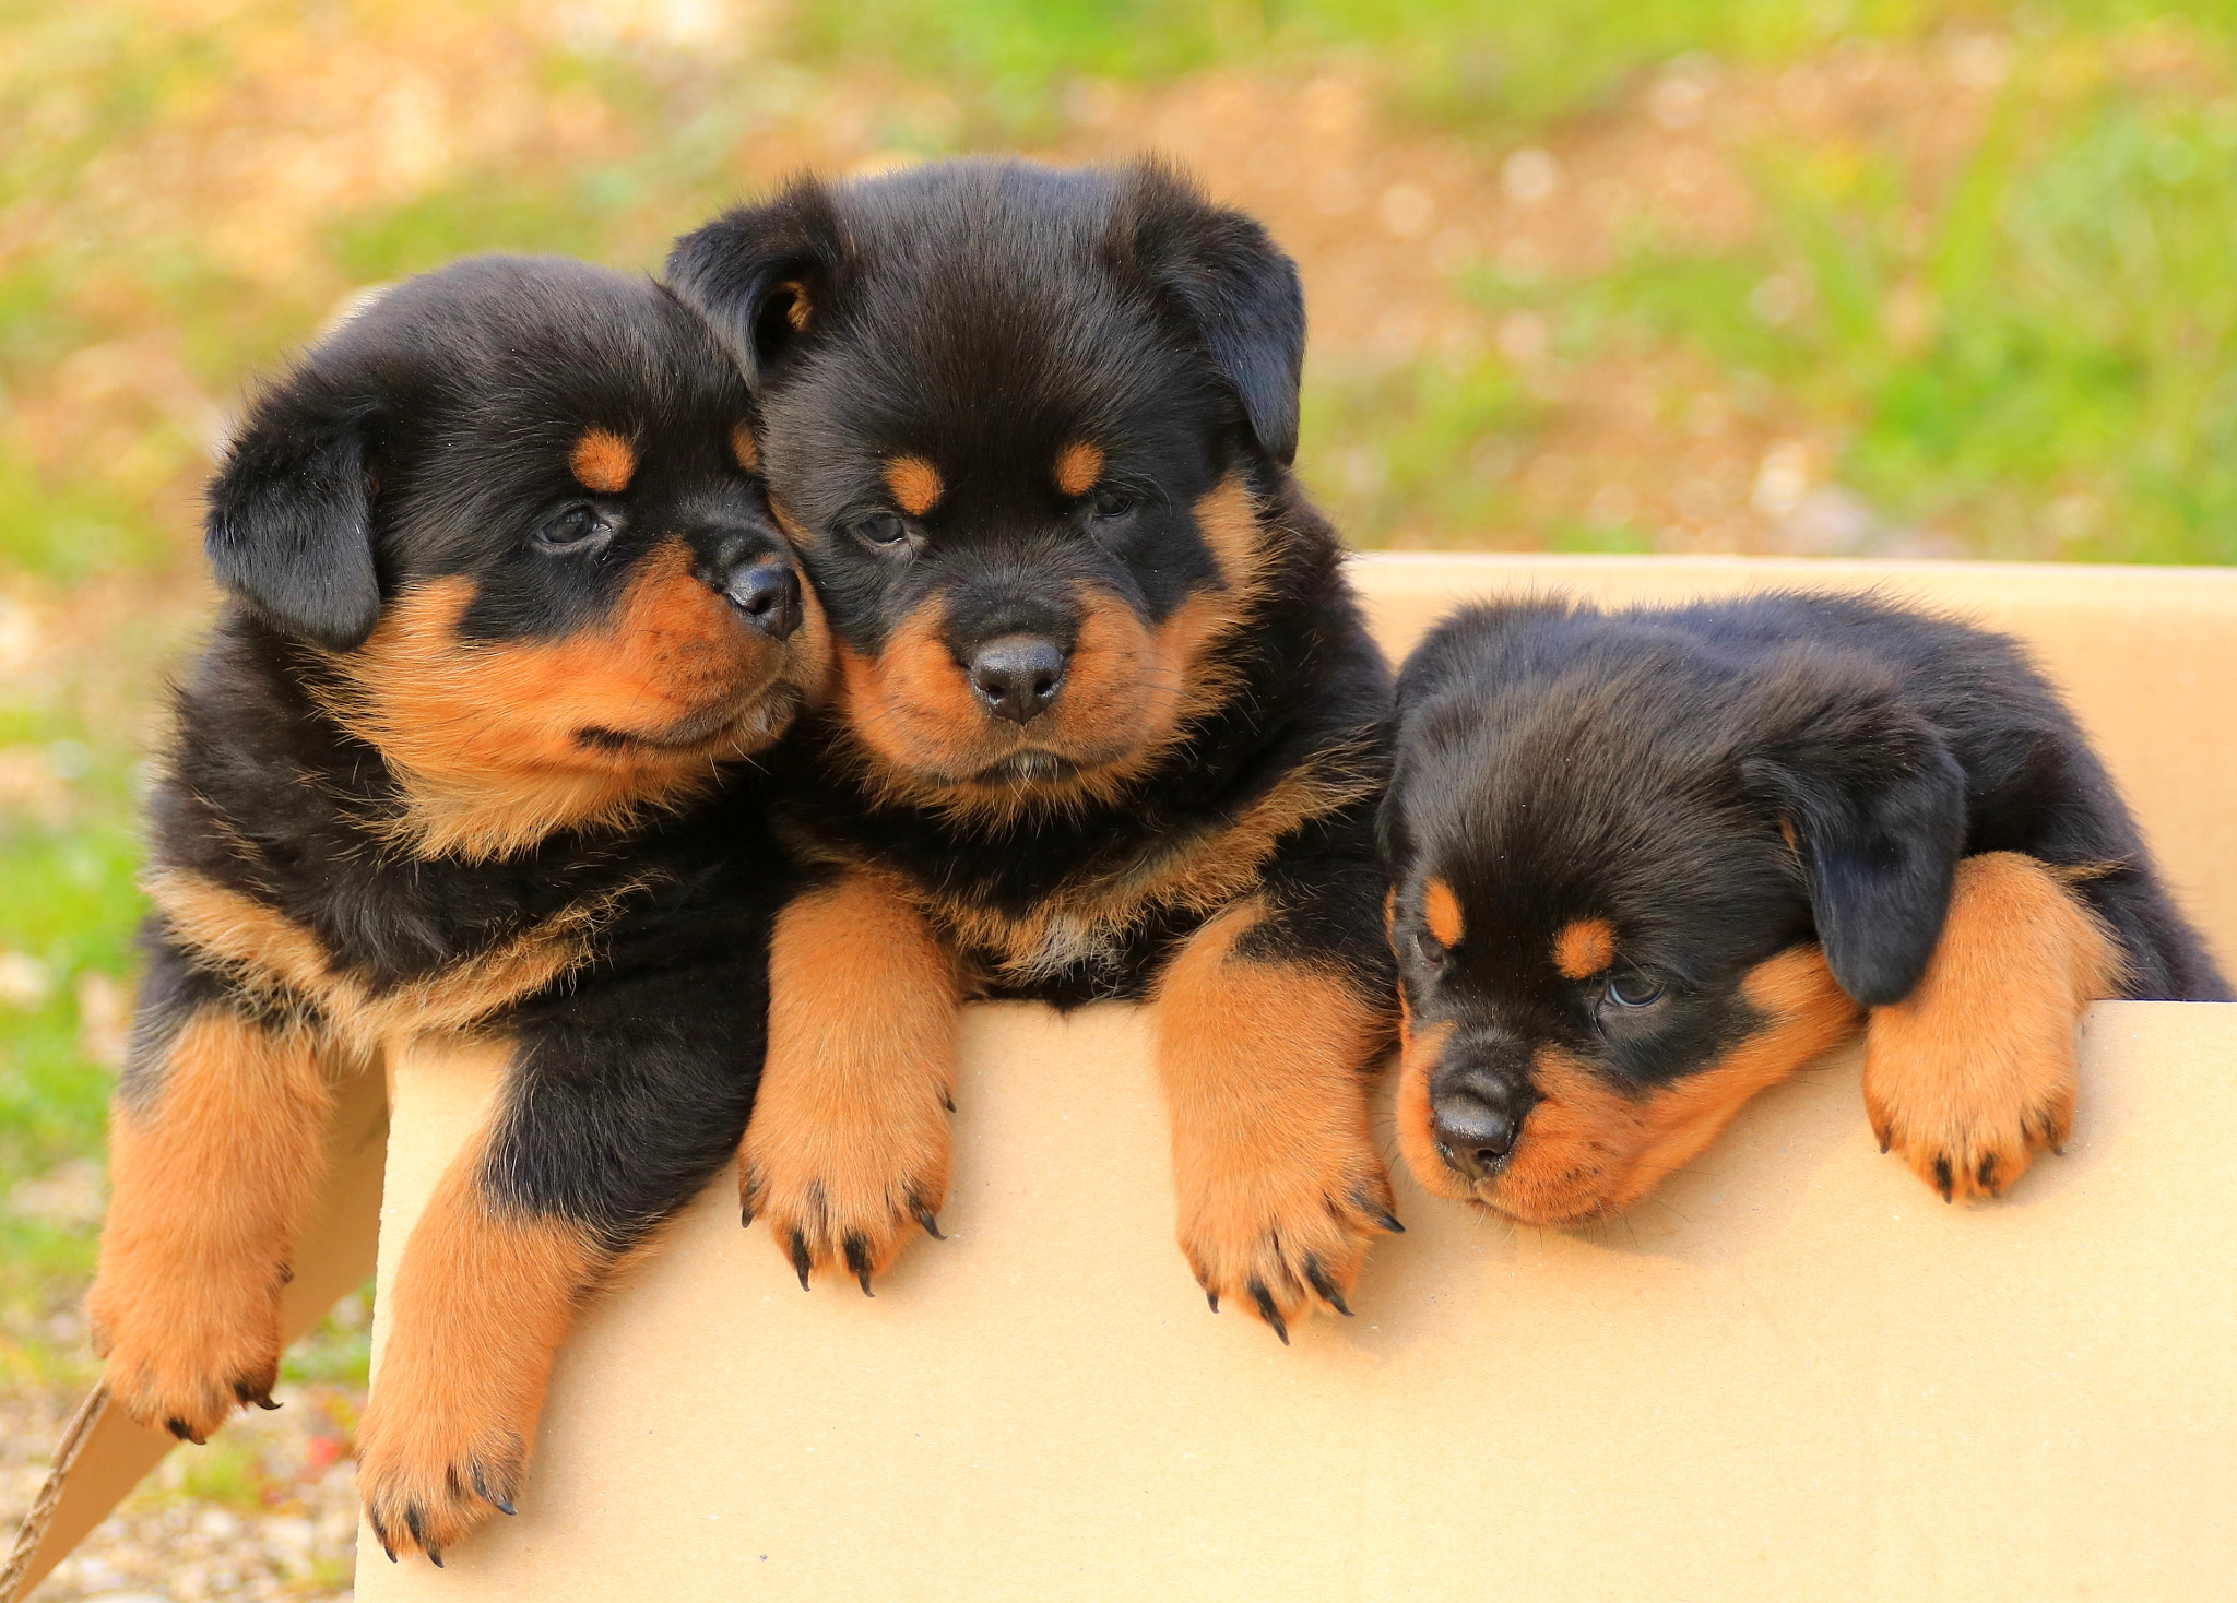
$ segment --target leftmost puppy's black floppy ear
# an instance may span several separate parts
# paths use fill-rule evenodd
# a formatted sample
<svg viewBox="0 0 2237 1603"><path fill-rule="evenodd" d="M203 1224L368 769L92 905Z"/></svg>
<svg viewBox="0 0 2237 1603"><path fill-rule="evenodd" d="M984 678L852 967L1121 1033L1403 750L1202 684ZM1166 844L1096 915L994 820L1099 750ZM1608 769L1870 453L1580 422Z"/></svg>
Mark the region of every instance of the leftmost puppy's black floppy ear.
<svg viewBox="0 0 2237 1603"><path fill-rule="evenodd" d="M298 376L257 402L210 481L204 550L217 581L273 626L329 651L362 646L380 617L376 420L376 402L336 391L315 371Z"/></svg>

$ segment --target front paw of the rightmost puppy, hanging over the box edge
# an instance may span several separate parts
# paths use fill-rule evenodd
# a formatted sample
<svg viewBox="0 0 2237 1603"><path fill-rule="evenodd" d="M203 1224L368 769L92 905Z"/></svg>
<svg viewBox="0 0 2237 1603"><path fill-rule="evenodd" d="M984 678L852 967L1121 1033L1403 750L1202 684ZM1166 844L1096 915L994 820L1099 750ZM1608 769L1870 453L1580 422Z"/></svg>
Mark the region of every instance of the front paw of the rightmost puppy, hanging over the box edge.
<svg viewBox="0 0 2237 1603"><path fill-rule="evenodd" d="M2036 1151L2058 1151L2074 1125L2074 1046L2031 1053L1973 1042L1939 1051L1866 1053L1863 1109L1881 1151L1895 1151L1942 1201L2002 1196Z"/></svg>

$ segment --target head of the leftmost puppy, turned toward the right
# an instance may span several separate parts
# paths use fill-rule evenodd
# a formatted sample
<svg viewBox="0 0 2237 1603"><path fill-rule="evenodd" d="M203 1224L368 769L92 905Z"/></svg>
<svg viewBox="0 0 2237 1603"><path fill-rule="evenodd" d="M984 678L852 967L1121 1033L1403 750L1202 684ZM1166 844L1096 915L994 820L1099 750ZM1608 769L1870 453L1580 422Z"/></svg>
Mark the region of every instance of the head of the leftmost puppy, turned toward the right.
<svg viewBox="0 0 2237 1603"><path fill-rule="evenodd" d="M233 440L208 552L313 648L434 852L682 796L825 671L736 369L671 295L579 262L470 259L336 329Z"/></svg>

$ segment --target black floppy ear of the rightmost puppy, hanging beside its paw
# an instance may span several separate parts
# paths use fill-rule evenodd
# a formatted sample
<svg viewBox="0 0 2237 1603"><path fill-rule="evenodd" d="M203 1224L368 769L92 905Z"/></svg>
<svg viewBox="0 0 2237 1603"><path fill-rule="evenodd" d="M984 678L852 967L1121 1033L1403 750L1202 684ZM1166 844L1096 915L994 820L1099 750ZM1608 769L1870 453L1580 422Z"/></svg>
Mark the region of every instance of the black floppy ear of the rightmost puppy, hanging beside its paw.
<svg viewBox="0 0 2237 1603"><path fill-rule="evenodd" d="M1776 660L1749 706L1743 785L1792 829L1825 964L1866 1006L1926 970L1964 852L1964 771L1886 671Z"/></svg>

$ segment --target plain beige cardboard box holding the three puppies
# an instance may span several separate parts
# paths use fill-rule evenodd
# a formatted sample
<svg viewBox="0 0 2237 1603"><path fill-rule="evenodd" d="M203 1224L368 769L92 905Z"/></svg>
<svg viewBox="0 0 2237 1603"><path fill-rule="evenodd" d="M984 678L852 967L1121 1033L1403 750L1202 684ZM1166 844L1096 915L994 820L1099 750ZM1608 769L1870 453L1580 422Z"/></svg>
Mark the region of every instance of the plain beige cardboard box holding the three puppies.
<svg viewBox="0 0 2237 1603"><path fill-rule="evenodd" d="M1456 599L1550 586L1886 586L2009 628L2237 955L2237 572L1358 572L1394 653ZM521 1516L443 1572L365 1538L358 1596L2219 1596L2237 1567L2233 1060L2237 1008L2096 1006L2069 1156L1982 1210L1879 1156L1854 1051L1591 1232L1499 1225L1400 1174L1409 1230L1378 1248L1360 1317L1284 1350L1210 1317L1172 1245L1145 1019L971 1008L946 1243L913 1245L877 1299L837 1277L803 1297L718 1183L584 1317ZM494 1078L456 1044L391 1055L383 1277ZM362 1160L374 1087L351 1107L338 1145ZM367 1218L360 1163L329 1245L302 1254L324 1294L362 1272ZM376 1315L376 1375L380 1335ZM96 1411L18 1583L166 1444Z"/></svg>

